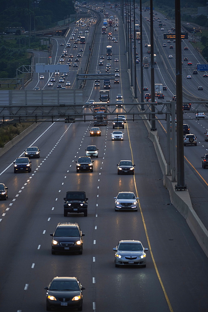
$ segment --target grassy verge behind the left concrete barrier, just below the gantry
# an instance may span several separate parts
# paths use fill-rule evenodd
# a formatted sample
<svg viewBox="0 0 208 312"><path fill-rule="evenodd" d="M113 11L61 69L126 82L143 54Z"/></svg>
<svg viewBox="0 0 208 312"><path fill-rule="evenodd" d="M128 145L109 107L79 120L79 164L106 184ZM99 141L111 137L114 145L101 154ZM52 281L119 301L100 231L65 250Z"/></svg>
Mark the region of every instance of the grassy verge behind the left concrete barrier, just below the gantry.
<svg viewBox="0 0 208 312"><path fill-rule="evenodd" d="M6 143L14 139L18 134L31 126L32 122L21 124L10 124L8 126L0 127L0 148L4 147Z"/></svg>

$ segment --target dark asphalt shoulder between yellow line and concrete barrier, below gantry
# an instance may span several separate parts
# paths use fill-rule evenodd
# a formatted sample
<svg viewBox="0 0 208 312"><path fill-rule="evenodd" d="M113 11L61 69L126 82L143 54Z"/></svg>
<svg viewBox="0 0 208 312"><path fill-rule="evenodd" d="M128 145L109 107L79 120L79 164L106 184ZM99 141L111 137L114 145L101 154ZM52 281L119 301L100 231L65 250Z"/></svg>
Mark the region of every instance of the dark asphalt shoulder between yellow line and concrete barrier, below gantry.
<svg viewBox="0 0 208 312"><path fill-rule="evenodd" d="M131 130L133 132L132 134ZM167 190L162 185L162 173L160 171L160 168L158 167L157 158L155 158L154 162L155 153L154 149L151 148L152 144L148 142L147 139L147 142L145 142L147 146L145 146L145 143L136 144L137 130L135 129L135 127L129 127L129 132L130 138L132 140L131 144L133 148L133 154L138 155L139 158L140 156L142 156L142 158L140 159L140 161L142 161L141 163L139 162L139 174L135 175L136 183L137 185L139 185L138 195L140 197L140 203L143 209L144 219L147 225L150 242L152 240L151 245L156 264L158 264L160 274L164 274L165 279L163 278L162 280L165 287L167 288L167 290L170 288L170 291L167 291L167 294L170 301L174 302L173 310L175 311L174 305L176 305L176 311L180 311L181 306L182 310L188 311L188 309L186 308L187 302L191 302L191 304L195 306L196 310L200 305L201 309L203 309L207 303L205 299L206 289L203 289L203 287L206 288L206 279L204 278L205 275L203 275L203 273L201 272L200 267L206 266L207 258L201 250L201 247L198 245L195 237L191 233L191 230L187 226L185 219L180 214L178 214L177 210L172 205L167 205L170 203L170 198ZM142 131L140 130L139 132ZM142 139L143 136L141 135L139 137L139 140ZM141 155L141 146L143 146L143 148L145 146L143 151L146 153L146 157L144 157L144 155ZM151 159L151 163L149 163L149 166L152 165L152 168L148 168L146 166L147 159L149 159L150 155L153 157L153 159ZM135 162L135 158L134 163L137 163ZM143 171L146 171L146 168L147 172L143 174ZM145 183L146 180L147 183ZM145 185L149 185L149 187L147 188ZM156 232L157 235L155 235ZM172 244L172 239L175 241L175 244ZM176 246L181 246L181 249L183 250L182 261L183 263L187 263L187 269L186 267L184 268L184 266L181 267L179 259L181 255L179 256L179 258L176 256L176 259L174 257L173 260L172 255L175 254ZM162 259L161 254L164 256L164 258L162 256ZM197 272L193 277L193 275L190 275L190 271L192 270L192 266L194 265L195 261L193 260L190 262L190 259L196 259L196 257L198 257L198 254L200 264L199 266L196 266ZM161 264L161 266L159 264ZM170 264L171 269L170 267L168 269L167 264ZM172 278L169 280L170 271ZM180 273L178 274L178 272ZM186 280L185 290L183 290L183 286L181 286L181 289L180 287L179 289L175 289L175 276L179 276L179 280L181 279L178 285L182 285ZM187 282L188 280L189 282ZM170 281L172 281L172 283L170 283ZM197 284L201 285L201 289L197 289L197 294L195 294L193 297L193 287L195 287L194 285ZM187 285L190 285L190 287ZM175 295L174 291L176 291ZM180 298L177 303L175 303L175 298ZM189 310L191 309L191 304L189 306Z"/></svg>

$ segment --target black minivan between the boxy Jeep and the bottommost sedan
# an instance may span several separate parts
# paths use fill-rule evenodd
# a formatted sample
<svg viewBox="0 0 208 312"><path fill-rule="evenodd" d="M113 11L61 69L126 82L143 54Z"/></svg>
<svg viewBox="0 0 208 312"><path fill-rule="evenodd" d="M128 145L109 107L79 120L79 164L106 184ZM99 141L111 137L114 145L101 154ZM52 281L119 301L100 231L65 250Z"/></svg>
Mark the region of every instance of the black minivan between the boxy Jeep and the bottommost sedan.
<svg viewBox="0 0 208 312"><path fill-rule="evenodd" d="M58 223L51 242L51 253L78 252L82 254L83 239L85 236L80 230L78 223Z"/></svg>

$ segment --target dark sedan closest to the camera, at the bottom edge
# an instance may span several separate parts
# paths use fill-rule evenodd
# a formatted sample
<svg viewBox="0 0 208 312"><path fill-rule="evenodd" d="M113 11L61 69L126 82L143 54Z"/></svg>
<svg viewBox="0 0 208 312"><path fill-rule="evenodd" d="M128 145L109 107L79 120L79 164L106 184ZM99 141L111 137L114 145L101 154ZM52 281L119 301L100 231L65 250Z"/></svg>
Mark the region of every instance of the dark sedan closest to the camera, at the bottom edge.
<svg viewBox="0 0 208 312"><path fill-rule="evenodd" d="M83 295L85 289L76 277L54 277L44 289L46 292L46 310L51 308L76 308L82 311Z"/></svg>

